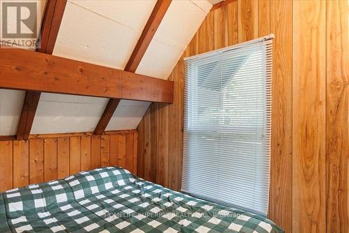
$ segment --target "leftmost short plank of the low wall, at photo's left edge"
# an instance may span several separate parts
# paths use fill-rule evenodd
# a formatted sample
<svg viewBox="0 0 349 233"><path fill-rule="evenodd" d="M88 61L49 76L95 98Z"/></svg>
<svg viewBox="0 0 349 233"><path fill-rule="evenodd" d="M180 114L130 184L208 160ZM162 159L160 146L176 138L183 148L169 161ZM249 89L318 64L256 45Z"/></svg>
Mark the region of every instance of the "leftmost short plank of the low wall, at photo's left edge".
<svg viewBox="0 0 349 233"><path fill-rule="evenodd" d="M0 141L0 192L13 187L13 144Z"/></svg>

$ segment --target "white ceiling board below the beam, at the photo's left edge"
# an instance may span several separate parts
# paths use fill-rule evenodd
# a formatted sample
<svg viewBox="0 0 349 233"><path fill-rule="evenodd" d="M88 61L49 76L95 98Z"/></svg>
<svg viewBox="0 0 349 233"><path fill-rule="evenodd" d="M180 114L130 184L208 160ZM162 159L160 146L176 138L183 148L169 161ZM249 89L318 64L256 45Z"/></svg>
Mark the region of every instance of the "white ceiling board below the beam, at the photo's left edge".
<svg viewBox="0 0 349 233"><path fill-rule="evenodd" d="M17 133L24 95L24 91L0 89L0 136Z"/></svg>

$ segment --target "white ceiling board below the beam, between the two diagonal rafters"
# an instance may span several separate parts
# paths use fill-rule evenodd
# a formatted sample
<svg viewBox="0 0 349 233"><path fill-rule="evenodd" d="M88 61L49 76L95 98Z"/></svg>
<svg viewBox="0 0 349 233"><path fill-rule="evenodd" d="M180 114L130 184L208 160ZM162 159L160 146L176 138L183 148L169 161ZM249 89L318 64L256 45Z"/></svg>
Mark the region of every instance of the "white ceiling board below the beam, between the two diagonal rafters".
<svg viewBox="0 0 349 233"><path fill-rule="evenodd" d="M42 93L31 134L94 131L108 99Z"/></svg>

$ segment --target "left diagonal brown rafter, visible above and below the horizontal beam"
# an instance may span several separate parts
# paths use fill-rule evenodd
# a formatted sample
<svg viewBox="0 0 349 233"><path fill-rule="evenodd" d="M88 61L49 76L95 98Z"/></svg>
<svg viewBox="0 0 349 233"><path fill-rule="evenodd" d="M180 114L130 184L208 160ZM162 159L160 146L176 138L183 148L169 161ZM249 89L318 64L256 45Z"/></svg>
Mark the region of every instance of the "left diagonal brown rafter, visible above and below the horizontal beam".
<svg viewBox="0 0 349 233"><path fill-rule="evenodd" d="M52 55L65 8L66 0L47 0L40 32L40 48L36 50L37 52ZM36 108L38 107L38 102L40 100L40 94L41 92L26 92L20 122L18 123L17 128L17 140L29 138Z"/></svg>

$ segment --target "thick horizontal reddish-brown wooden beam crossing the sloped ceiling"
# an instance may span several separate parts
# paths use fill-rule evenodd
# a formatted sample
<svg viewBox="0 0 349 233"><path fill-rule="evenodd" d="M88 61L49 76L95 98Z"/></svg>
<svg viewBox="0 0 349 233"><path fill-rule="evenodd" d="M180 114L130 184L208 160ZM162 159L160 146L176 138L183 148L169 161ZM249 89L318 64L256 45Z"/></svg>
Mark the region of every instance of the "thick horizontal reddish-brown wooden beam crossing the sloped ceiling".
<svg viewBox="0 0 349 233"><path fill-rule="evenodd" d="M0 88L173 102L173 83L18 48L0 49Z"/></svg>

